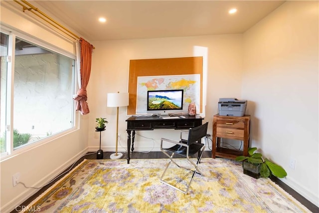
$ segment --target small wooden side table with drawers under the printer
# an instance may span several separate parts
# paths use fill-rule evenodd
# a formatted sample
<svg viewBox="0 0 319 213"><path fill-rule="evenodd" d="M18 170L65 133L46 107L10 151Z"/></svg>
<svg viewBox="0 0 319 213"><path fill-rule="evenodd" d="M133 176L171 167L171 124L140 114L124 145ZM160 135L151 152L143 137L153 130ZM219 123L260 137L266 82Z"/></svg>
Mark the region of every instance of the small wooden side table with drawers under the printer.
<svg viewBox="0 0 319 213"><path fill-rule="evenodd" d="M242 117L214 115L212 158L235 159L237 156L248 156L250 115ZM243 151L227 149L220 146L220 138L243 141Z"/></svg>

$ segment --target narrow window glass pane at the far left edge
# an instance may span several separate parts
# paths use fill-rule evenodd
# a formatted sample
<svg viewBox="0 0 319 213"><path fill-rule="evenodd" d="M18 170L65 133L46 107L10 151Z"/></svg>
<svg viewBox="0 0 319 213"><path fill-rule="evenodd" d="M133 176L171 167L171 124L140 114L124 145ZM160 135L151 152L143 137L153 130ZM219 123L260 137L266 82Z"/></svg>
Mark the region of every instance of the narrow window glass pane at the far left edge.
<svg viewBox="0 0 319 213"><path fill-rule="evenodd" d="M6 115L6 82L7 82L7 55L8 55L8 35L1 32L0 34L0 153L6 152L6 132L5 132L5 115Z"/></svg>

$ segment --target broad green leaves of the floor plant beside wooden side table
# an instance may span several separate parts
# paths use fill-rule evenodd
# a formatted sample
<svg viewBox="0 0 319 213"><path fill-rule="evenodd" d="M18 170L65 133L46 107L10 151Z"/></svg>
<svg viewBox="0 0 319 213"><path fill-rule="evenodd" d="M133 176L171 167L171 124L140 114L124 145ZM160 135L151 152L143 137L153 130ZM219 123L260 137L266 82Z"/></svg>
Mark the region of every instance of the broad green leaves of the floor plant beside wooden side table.
<svg viewBox="0 0 319 213"><path fill-rule="evenodd" d="M287 176L286 171L279 165L272 163L267 158L263 158L261 153L254 153L257 150L256 147L248 149L247 156L238 156L235 158L236 161L248 161L251 164L261 164L260 176L268 178L271 174L278 178L284 178Z"/></svg>

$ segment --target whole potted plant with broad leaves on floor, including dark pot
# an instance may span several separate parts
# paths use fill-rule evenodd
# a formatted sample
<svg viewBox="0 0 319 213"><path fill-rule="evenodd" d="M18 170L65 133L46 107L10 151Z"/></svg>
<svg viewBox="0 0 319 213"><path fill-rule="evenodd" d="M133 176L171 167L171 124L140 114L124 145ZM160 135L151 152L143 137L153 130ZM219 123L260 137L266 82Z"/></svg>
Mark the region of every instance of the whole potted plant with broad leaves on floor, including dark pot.
<svg viewBox="0 0 319 213"><path fill-rule="evenodd" d="M258 179L259 177L268 178L271 174L278 178L287 176L286 171L279 165L270 162L267 158L263 158L261 153L254 153L256 147L248 149L247 156L238 156L236 161L243 162L244 174Z"/></svg>

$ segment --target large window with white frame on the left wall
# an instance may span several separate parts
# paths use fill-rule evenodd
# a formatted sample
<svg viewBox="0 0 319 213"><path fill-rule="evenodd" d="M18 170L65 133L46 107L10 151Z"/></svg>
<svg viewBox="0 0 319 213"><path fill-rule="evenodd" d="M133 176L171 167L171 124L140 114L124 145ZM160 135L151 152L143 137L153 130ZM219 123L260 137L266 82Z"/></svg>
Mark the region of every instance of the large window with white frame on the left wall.
<svg viewBox="0 0 319 213"><path fill-rule="evenodd" d="M12 69L7 69L2 64L4 60L1 50L1 153L8 151L8 147L5 147L5 138L8 140L8 137L5 137L5 134L8 134L5 127L13 131L13 134L10 134L10 142L13 143L10 146L11 151L74 127L72 97L75 60L27 39L15 36L13 38L13 63L8 63ZM13 81L5 78L9 70L14 70L11 75L7 75L12 76ZM7 88L13 88L10 114L3 112L5 105L8 107L8 103L2 103L5 101L4 98L2 100L5 96L5 82ZM13 87L10 84L13 84ZM13 123L3 124L5 119L2 119L2 116L10 116Z"/></svg>

